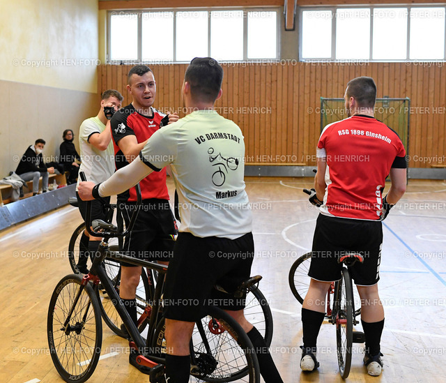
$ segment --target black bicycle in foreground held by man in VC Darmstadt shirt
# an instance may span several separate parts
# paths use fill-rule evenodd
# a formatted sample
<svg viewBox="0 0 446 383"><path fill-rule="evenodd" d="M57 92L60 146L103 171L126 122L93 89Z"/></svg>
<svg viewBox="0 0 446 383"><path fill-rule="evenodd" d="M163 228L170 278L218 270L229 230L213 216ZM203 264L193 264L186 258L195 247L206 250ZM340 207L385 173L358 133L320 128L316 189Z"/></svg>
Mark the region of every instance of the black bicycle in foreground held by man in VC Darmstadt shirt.
<svg viewBox="0 0 446 383"><path fill-rule="evenodd" d="M89 216L90 209L87 210ZM128 230L135 220L136 215L132 216ZM66 382L85 382L93 374L102 345L102 322L98 297L95 294L101 283L112 297L116 310L132 337L130 345L139 354L138 363L151 368L151 382L164 382L163 353L156 343L161 338L161 293L164 278L158 278L155 287L148 335L144 341L102 265L107 254L107 239L124 236L128 230L120 233L116 227L103 221L93 224L100 234L91 234L102 236L103 240L93 259L90 273L83 277L78 274L63 277L56 285L49 303L47 336L54 366ZM90 230L89 226L87 230ZM116 261L125 260L156 270L160 276L167 272L167 267L160 264L135 260L117 253L109 255ZM259 382L259 363L245 331L223 310L213 306L206 310L208 315L196 323L199 339L192 339L190 344L193 366L191 375L198 381L206 382ZM209 329L208 332L206 328ZM210 338L210 333L213 338Z"/></svg>

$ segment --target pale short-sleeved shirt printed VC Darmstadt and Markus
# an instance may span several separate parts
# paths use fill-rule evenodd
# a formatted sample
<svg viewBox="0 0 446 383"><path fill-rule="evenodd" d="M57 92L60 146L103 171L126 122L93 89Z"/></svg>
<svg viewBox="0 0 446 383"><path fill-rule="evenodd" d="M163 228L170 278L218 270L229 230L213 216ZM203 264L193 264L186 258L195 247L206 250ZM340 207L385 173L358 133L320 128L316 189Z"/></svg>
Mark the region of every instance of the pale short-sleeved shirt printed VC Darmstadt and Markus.
<svg viewBox="0 0 446 383"><path fill-rule="evenodd" d="M157 130L141 151L154 170L171 165L180 232L236 239L252 231L240 128L214 110L198 110Z"/></svg>

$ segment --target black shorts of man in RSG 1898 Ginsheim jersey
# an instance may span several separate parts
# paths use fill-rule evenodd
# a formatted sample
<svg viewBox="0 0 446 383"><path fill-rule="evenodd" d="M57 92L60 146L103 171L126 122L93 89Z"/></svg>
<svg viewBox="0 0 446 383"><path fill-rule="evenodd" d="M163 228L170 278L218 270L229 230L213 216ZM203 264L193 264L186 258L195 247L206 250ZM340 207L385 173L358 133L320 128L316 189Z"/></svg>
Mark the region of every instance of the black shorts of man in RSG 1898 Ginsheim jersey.
<svg viewBox="0 0 446 383"><path fill-rule="evenodd" d="M346 251L360 253L364 262L349 268L356 285L378 283L383 224L380 220L354 220L319 214L314 231L312 262L308 275L316 280L332 282L341 279L339 255Z"/></svg>

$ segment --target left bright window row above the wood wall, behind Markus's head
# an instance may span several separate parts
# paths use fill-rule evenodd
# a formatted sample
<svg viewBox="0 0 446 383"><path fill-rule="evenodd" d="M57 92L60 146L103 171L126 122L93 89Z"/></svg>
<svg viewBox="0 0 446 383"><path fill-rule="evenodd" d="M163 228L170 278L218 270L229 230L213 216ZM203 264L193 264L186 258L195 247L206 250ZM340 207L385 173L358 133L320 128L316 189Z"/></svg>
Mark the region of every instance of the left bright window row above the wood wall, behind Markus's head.
<svg viewBox="0 0 446 383"><path fill-rule="evenodd" d="M277 59L279 10L121 11L109 13L109 62Z"/></svg>

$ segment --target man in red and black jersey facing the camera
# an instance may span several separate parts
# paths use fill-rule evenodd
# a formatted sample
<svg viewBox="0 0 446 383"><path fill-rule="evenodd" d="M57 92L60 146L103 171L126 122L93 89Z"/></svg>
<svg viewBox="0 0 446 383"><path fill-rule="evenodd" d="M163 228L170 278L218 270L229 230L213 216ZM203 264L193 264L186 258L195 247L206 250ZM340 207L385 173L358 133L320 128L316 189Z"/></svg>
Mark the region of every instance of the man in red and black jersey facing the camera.
<svg viewBox="0 0 446 383"><path fill-rule="evenodd" d="M111 121L116 169L121 169L139 156L144 144L160 129L160 123L166 116L152 107L156 96L156 84L151 68L138 65L130 69L127 89L132 94L132 103L118 110ZM178 114L169 114L168 118L169 123L175 122L178 120ZM176 234L177 229L169 206L166 177L164 168L140 181L143 205L138 213L134 230L125 239L124 251L127 255L162 263L169 262L174 241L169 241L167 237ZM134 187L118 195L118 207L123 212L127 225L136 201ZM141 266L122 263L119 295L135 324L137 323L135 297L140 276ZM136 356L136 353L130 352L130 363L141 372L148 373L149 369L136 363Z"/></svg>

